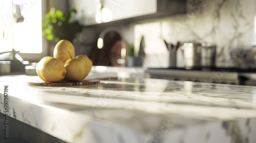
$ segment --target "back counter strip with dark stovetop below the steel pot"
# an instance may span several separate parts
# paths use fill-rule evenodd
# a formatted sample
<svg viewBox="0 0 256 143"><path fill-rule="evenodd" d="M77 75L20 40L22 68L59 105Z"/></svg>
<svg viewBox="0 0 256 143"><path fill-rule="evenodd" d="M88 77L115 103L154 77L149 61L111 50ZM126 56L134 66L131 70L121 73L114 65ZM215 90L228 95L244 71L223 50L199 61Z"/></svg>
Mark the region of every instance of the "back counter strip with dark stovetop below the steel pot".
<svg viewBox="0 0 256 143"><path fill-rule="evenodd" d="M151 78L256 86L256 69L230 67L148 68Z"/></svg>

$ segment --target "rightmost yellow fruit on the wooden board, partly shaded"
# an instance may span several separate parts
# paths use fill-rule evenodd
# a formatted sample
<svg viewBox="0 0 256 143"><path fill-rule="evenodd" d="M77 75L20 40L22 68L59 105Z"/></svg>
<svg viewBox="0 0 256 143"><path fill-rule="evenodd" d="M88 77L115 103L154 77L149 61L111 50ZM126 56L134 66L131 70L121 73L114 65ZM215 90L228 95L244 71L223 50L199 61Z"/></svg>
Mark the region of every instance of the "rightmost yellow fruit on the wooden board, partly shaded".
<svg viewBox="0 0 256 143"><path fill-rule="evenodd" d="M78 82L85 78L86 63L83 60L78 58L71 59L65 63L65 67L67 69L65 80Z"/></svg>

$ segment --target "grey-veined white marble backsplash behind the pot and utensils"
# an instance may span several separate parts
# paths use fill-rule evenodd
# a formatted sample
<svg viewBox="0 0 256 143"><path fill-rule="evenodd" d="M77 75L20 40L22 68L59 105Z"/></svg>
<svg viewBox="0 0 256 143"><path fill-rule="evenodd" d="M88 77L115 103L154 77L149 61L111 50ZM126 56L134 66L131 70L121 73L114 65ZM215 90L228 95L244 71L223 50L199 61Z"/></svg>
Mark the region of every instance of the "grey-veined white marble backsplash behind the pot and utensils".
<svg viewBox="0 0 256 143"><path fill-rule="evenodd" d="M134 27L134 46L138 52L141 37L145 40L146 67L167 67L168 51L163 39L176 44L177 41L204 41L217 45L217 66L237 66L255 41L255 0L187 0L185 14L137 21ZM250 58L254 60L256 52ZM248 57L248 56L247 56ZM177 66L184 66L181 51L177 52ZM253 63L254 64L254 63Z"/></svg>

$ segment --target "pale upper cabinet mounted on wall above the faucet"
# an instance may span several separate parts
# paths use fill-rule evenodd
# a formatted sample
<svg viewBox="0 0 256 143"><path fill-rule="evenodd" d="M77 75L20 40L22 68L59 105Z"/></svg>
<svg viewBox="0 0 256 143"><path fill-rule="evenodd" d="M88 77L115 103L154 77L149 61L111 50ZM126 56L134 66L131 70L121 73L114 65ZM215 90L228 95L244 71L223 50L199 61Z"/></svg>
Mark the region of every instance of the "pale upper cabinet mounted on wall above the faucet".
<svg viewBox="0 0 256 143"><path fill-rule="evenodd" d="M186 0L73 0L84 26L111 21L134 21L186 12Z"/></svg>

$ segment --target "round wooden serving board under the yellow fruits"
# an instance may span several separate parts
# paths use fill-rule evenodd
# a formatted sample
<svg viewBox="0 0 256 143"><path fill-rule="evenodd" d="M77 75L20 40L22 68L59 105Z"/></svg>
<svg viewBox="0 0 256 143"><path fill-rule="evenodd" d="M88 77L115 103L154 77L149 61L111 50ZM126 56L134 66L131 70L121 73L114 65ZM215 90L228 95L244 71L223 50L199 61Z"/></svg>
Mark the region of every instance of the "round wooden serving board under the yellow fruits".
<svg viewBox="0 0 256 143"><path fill-rule="evenodd" d="M45 81L32 81L27 82L30 86L85 86L85 85L97 85L99 84L99 80L83 80L80 82L67 82L67 81L59 81L59 82L45 82Z"/></svg>

